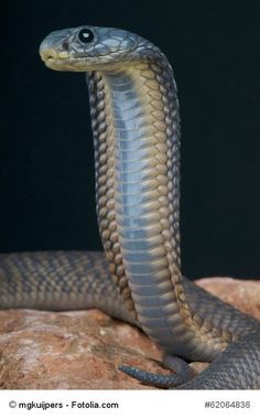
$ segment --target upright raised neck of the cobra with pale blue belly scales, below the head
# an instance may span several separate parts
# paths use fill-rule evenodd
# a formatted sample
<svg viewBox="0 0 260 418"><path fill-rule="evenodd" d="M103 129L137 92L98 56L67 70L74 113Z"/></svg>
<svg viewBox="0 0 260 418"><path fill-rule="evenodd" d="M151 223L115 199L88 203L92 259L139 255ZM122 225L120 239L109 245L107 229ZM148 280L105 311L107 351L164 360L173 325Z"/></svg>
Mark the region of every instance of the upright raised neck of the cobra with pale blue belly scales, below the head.
<svg viewBox="0 0 260 418"><path fill-rule="evenodd" d="M209 358L212 347L194 344L201 320L182 285L180 117L172 69L162 58L91 72L87 79L97 214L110 274L150 337L167 352L196 358L204 351Z"/></svg>

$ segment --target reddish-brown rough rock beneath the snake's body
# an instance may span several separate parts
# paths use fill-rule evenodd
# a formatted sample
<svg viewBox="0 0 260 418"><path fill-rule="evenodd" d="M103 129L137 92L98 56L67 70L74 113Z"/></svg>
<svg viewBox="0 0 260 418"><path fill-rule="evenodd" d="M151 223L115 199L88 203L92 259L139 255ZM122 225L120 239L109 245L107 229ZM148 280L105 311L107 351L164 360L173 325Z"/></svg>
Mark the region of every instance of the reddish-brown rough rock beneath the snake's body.
<svg viewBox="0 0 260 418"><path fill-rule="evenodd" d="M260 319L260 281L214 278L197 285ZM2 389L153 389L118 366L166 374L161 356L141 331L98 310L0 311Z"/></svg>

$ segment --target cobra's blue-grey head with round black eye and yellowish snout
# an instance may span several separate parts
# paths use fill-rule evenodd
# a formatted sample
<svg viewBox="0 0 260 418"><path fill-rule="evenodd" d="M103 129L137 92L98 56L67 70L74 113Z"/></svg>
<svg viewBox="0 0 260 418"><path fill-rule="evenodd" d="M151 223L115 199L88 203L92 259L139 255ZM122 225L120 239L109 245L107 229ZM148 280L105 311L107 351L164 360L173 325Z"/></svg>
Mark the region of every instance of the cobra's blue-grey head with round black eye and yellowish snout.
<svg viewBox="0 0 260 418"><path fill-rule="evenodd" d="M110 71L141 56L142 61L164 57L158 46L134 33L87 25L52 32L41 43L40 55L48 68L69 72Z"/></svg>

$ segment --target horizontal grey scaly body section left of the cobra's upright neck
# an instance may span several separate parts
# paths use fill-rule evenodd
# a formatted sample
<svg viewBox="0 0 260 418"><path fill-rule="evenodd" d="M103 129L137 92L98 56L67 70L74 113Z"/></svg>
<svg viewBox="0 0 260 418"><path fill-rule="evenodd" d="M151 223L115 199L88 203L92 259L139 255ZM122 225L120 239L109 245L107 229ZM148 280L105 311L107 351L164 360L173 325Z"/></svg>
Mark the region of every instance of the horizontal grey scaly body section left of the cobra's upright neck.
<svg viewBox="0 0 260 418"><path fill-rule="evenodd" d="M1 309L63 311L99 308L115 318L136 323L126 310L100 253L1 254L0 289Z"/></svg>

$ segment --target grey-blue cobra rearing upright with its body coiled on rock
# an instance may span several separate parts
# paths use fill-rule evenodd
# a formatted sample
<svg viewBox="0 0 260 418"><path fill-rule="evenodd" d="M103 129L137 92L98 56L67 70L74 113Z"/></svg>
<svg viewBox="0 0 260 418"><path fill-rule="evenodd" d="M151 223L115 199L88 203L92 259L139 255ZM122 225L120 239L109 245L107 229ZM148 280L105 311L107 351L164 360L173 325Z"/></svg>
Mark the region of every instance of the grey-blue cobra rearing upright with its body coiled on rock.
<svg viewBox="0 0 260 418"><path fill-rule="evenodd" d="M120 366L145 384L260 388L260 322L182 274L181 121L167 58L138 34L90 25L52 32L40 55L47 68L86 74L104 251L0 255L0 308L98 308L139 326L175 371ZM193 361L210 364L194 376Z"/></svg>

